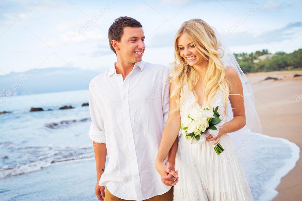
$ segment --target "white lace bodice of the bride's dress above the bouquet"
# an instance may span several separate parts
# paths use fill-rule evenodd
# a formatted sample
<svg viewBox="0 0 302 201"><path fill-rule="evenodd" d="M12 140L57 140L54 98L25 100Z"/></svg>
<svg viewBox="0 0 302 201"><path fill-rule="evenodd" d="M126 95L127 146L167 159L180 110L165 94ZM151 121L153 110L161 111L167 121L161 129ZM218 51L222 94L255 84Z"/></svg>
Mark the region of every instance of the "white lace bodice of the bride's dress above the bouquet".
<svg viewBox="0 0 302 201"><path fill-rule="evenodd" d="M181 99L182 99L182 96L184 95L184 93L188 90L188 84L187 83L184 84L183 89L184 89L184 91L181 90L181 92L180 92L180 98ZM180 107L181 121L182 121L182 119L184 119L185 116L188 115L189 111L192 109L193 106L199 107L199 104L197 102L194 104L195 101L196 101L196 98L195 98L193 92L191 91L189 93L188 97L185 99L185 101L183 102L183 104ZM204 106L206 107L208 105L204 105ZM213 100L213 108L216 108L217 106L219 106L218 107L218 112L220 114L219 118L223 122L226 122L227 116L224 114L225 101L224 101L222 90L217 91L216 96Z"/></svg>

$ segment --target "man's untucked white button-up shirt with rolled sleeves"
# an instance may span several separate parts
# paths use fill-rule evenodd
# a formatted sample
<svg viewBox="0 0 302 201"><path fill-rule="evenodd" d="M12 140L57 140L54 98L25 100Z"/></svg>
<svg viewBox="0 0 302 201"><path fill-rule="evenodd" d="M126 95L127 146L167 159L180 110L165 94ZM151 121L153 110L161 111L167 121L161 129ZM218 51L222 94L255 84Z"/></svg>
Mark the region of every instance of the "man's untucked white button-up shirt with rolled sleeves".
<svg viewBox="0 0 302 201"><path fill-rule="evenodd" d="M144 200L171 188L154 165L169 113L169 69L141 61L123 80L115 64L89 83L89 137L106 143L109 159L99 185Z"/></svg>

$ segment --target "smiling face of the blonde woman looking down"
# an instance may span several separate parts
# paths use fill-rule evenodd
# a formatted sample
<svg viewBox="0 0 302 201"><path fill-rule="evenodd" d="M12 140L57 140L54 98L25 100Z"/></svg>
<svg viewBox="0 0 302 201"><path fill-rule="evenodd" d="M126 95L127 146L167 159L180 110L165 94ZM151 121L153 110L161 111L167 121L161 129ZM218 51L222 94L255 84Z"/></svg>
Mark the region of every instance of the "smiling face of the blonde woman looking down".
<svg viewBox="0 0 302 201"><path fill-rule="evenodd" d="M188 62L190 66L199 65L204 62L204 57L195 48L191 37L184 33L177 39L179 55Z"/></svg>

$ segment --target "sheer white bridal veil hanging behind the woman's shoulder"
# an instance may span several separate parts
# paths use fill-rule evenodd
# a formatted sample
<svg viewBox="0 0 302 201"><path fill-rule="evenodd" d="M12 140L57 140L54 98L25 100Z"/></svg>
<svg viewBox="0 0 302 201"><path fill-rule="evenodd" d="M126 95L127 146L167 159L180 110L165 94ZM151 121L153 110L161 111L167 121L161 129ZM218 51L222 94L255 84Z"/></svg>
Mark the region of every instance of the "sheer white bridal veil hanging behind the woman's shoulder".
<svg viewBox="0 0 302 201"><path fill-rule="evenodd" d="M219 47L220 60L223 62L224 66L232 66L235 68L240 77L243 86L244 107L246 113L246 125L236 132L228 133L233 140L236 152L223 160L225 160L225 163L232 162L232 158L237 155L249 180L249 185L252 187L256 185L255 166L253 164L257 162L256 156L259 152L259 142L262 131L259 117L255 110L255 96L252 92L249 80L241 70L233 53L226 46L218 31L214 27L212 27L212 29L215 31L217 42L221 43L221 46ZM233 118L230 100L228 100L227 115L227 121L230 121Z"/></svg>

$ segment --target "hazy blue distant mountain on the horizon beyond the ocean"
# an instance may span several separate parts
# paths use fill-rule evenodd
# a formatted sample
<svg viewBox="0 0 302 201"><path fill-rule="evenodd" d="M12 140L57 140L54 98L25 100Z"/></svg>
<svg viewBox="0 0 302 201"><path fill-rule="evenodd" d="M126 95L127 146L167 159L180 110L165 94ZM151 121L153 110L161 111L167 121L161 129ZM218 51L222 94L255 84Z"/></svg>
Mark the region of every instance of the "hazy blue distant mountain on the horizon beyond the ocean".
<svg viewBox="0 0 302 201"><path fill-rule="evenodd" d="M73 68L44 68L0 76L0 96L84 90L101 72Z"/></svg>

